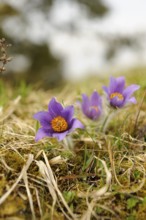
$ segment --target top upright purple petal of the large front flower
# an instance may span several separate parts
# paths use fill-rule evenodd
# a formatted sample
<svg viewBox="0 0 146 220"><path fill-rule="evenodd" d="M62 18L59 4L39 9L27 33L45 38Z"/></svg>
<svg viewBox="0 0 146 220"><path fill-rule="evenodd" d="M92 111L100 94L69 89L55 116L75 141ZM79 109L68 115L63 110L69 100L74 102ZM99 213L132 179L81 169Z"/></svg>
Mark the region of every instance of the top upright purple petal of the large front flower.
<svg viewBox="0 0 146 220"><path fill-rule="evenodd" d="M63 107L59 102L56 101L55 98L52 98L48 105L48 110L52 117L56 117L61 114Z"/></svg>

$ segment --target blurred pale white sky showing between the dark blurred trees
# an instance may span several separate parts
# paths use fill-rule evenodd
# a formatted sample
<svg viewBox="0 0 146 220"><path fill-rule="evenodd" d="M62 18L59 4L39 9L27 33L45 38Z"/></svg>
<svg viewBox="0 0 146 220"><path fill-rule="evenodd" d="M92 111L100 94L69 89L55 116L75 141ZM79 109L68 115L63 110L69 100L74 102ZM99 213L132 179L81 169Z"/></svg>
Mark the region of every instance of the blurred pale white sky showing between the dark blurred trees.
<svg viewBox="0 0 146 220"><path fill-rule="evenodd" d="M69 79L146 64L146 45L141 54L123 49L110 64L105 63L103 60L105 45L95 37L96 32L131 36L146 33L146 0L105 0L105 2L111 8L110 13L94 22L82 20L80 12L68 4L65 4L64 10L60 10L57 5L54 8L52 17L55 17L56 23L78 18L83 32L82 35L55 34L51 39L53 52L64 57L64 72Z"/></svg>

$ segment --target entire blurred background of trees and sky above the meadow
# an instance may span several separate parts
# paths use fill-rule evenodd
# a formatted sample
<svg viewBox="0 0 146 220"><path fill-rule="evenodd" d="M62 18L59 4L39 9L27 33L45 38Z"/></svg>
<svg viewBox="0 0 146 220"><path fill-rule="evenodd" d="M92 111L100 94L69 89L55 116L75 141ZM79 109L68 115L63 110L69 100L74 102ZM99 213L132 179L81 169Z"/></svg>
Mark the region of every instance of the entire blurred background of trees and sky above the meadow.
<svg viewBox="0 0 146 220"><path fill-rule="evenodd" d="M0 0L6 81L43 88L146 66L145 0ZM146 76L145 76L146 77Z"/></svg>

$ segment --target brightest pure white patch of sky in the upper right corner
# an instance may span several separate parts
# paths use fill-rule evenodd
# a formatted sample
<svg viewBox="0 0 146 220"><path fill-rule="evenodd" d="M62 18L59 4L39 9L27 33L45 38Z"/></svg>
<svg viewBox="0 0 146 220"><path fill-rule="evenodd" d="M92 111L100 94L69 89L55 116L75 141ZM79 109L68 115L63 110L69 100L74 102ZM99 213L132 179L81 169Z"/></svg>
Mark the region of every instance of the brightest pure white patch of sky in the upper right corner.
<svg viewBox="0 0 146 220"><path fill-rule="evenodd" d="M108 31L135 33L146 31L145 0L104 0L112 8L108 20L103 22ZM110 26L109 23L112 25Z"/></svg>

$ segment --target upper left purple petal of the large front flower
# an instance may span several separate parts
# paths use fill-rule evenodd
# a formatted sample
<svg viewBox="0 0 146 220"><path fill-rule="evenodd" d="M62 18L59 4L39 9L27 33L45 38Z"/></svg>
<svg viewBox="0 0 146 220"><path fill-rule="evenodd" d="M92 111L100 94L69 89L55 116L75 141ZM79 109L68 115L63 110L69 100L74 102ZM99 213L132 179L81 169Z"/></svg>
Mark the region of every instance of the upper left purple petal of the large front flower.
<svg viewBox="0 0 146 220"><path fill-rule="evenodd" d="M37 112L33 115L33 117L38 120L44 128L51 128L50 121L52 120L52 118L49 115L49 112Z"/></svg>

